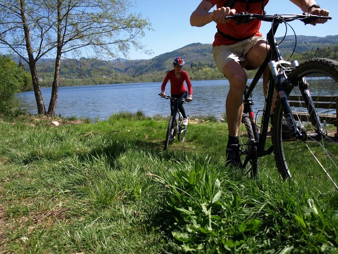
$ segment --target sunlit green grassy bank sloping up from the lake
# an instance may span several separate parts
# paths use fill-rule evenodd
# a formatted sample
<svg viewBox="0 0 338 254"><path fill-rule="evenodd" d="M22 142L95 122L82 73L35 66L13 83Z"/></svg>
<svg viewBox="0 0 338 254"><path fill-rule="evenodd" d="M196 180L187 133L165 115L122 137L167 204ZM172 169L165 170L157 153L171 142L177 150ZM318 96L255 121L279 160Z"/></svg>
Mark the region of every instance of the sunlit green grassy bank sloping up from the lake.
<svg viewBox="0 0 338 254"><path fill-rule="evenodd" d="M52 121L57 121L55 126ZM225 123L0 119L0 253L336 253L337 196L224 167ZM301 168L302 165L299 165Z"/></svg>

